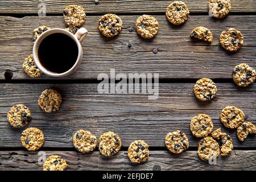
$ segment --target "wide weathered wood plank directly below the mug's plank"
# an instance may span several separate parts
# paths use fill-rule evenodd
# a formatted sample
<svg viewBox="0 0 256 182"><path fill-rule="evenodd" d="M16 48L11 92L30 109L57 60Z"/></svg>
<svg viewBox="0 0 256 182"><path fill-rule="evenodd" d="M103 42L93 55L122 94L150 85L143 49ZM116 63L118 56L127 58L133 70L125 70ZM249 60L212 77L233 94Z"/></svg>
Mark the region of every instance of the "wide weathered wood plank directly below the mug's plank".
<svg viewBox="0 0 256 182"><path fill-rule="evenodd" d="M37 100L46 88L55 88L63 104L55 114L43 113ZM19 138L24 129L10 127L6 113L11 106L23 103L30 107L32 121L28 127L44 131L44 147L73 147L72 135L88 129L97 137L106 131L116 132L124 147L143 139L151 147L164 147L167 133L180 129L187 134L191 147L198 139L192 136L189 123L199 113L209 114L214 129L222 127L232 137L234 147L256 147L250 135L240 142L236 130L220 122L221 110L228 105L240 107L246 121L256 123L256 85L237 88L234 84L217 83L218 101L197 101L193 84L160 84L159 98L148 100L147 94L99 94L97 84L0 84L0 147L22 147Z"/></svg>

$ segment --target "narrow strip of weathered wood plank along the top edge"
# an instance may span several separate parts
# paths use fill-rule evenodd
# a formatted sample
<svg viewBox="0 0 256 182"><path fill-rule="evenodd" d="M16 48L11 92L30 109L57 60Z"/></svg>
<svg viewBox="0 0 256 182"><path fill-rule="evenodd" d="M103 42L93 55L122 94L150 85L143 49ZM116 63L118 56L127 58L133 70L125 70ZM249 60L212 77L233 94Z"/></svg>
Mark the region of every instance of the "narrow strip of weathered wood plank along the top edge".
<svg viewBox="0 0 256 182"><path fill-rule="evenodd" d="M191 13L207 13L208 1L206 0L186 0ZM85 8L88 14L132 14L132 13L164 13L170 1L156 1L156 0L109 0L100 1L95 5L93 0L1 0L0 13L9 14L38 14L39 5L46 5L47 14L61 14L65 6L76 4ZM256 2L254 0L232 1L232 13L255 13Z"/></svg>

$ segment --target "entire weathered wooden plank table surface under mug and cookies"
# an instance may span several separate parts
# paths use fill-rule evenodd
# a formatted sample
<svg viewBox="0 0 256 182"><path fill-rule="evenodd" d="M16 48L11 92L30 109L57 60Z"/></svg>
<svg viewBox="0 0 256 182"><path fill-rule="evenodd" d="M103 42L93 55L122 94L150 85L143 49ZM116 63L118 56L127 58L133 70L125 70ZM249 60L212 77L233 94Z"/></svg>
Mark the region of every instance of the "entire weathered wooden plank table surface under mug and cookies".
<svg viewBox="0 0 256 182"><path fill-rule="evenodd" d="M47 16L38 16L39 3L46 5ZM186 0L191 11L182 26L172 26L165 17L171 1L155 0L1 0L0 1L0 170L42 170L38 151L28 152L20 143L24 129L10 127L6 113L11 106L23 103L30 107L32 121L27 127L38 127L45 135L40 151L46 155L63 156L69 170L135 169L135 170L256 170L256 137L249 135L240 142L236 130L220 122L221 110L228 105L240 107L246 121L256 124L256 84L238 88L232 70L240 63L256 68L256 1L232 0L232 12L224 19L208 16L208 0ZM32 30L45 25L64 28L62 11L76 4L86 10L89 35L82 42L84 56L77 71L65 78L43 75L29 78L23 72L24 59L32 53ZM97 30L98 19L116 13L123 20L123 30L115 38L104 38ZM154 15L160 28L154 39L144 40L136 31L129 32L142 14ZM195 41L190 32L197 26L208 27L213 42ZM244 45L236 53L226 52L218 42L222 30L234 27L244 37ZM127 46L131 43L131 47ZM152 49L158 49L153 53ZM159 98L148 100L147 94L100 94L97 92L99 73L159 73ZM196 100L192 88L196 80L212 78L217 84L218 100ZM55 114L46 114L38 106L40 93L47 88L59 90L63 104ZM214 129L221 127L234 144L228 157L218 157L216 165L200 160L197 142L189 123L196 114L209 114ZM26 127L26 128L27 128ZM73 147L72 135L88 129L98 137L114 131L122 139L121 151L110 159L100 155L81 154ZM167 133L182 130L189 138L189 149L180 155L170 154L164 145ZM146 163L131 164L127 148L136 139L150 146Z"/></svg>

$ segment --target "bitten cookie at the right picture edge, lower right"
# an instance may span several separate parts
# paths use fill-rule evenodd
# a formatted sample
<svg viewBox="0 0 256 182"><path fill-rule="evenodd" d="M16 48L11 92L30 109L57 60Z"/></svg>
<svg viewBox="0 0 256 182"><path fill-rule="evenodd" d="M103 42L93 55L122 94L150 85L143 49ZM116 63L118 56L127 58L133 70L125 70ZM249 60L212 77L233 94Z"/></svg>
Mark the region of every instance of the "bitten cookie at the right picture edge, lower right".
<svg viewBox="0 0 256 182"><path fill-rule="evenodd" d="M256 134L256 126L251 122L243 123L237 128L237 137L240 141L244 141L248 134Z"/></svg>

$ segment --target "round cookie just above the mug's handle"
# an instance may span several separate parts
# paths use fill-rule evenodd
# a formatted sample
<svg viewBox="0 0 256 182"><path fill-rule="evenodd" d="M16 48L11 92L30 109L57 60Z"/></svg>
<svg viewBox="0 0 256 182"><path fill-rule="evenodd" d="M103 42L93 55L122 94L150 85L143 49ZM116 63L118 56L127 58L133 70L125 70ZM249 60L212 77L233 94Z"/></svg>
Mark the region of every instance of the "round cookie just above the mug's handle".
<svg viewBox="0 0 256 182"><path fill-rule="evenodd" d="M78 5L67 6L63 11L64 22L69 27L80 27L84 24L86 19L85 10Z"/></svg>

